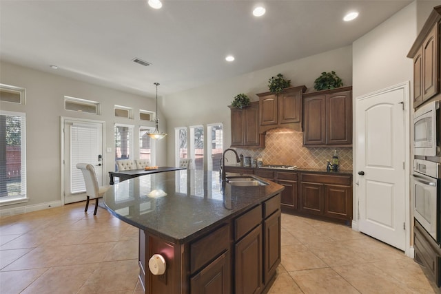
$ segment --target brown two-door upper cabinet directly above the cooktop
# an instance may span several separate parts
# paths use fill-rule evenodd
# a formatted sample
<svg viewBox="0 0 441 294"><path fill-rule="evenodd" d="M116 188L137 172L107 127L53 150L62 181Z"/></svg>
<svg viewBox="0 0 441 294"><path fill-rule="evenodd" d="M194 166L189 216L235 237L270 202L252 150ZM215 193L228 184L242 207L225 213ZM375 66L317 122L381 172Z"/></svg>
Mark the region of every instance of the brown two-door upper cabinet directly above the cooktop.
<svg viewBox="0 0 441 294"><path fill-rule="evenodd" d="M302 93L304 85L285 88L282 92L257 94L260 107L259 132L265 133L274 127L289 127L301 131Z"/></svg>

